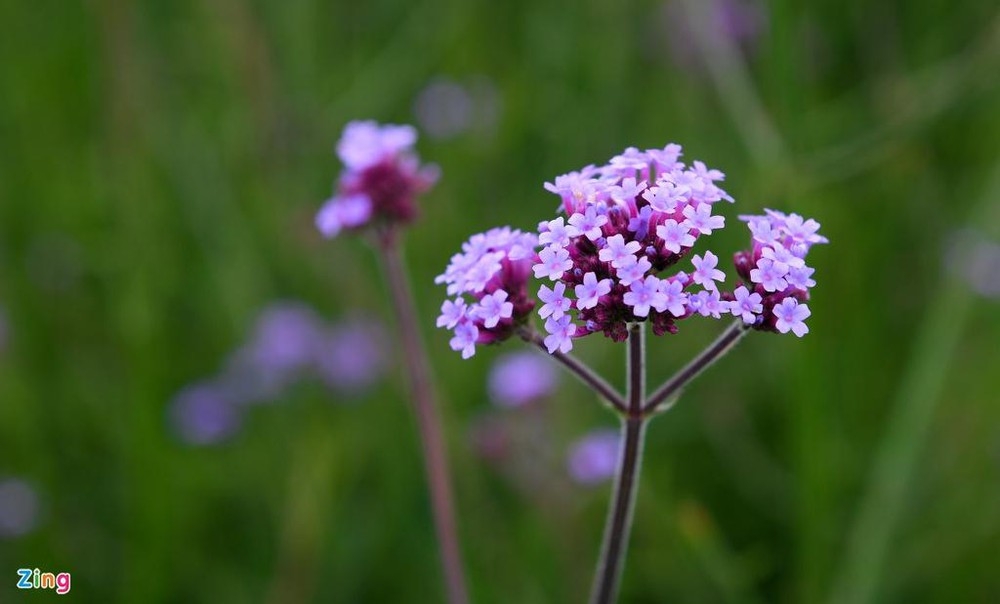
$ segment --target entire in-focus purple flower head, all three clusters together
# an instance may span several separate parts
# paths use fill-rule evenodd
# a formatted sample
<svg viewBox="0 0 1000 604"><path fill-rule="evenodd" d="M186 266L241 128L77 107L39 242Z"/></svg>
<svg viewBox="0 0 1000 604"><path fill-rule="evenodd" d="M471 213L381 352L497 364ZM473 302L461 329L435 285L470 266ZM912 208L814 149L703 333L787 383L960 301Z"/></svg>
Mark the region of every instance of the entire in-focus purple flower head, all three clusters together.
<svg viewBox="0 0 1000 604"><path fill-rule="evenodd" d="M498 251L505 245L518 267L532 257L531 272L543 281L538 315L549 353L569 352L575 338L597 332L624 341L628 326L641 321L649 321L656 335L676 333L677 322L694 315L734 315L758 330L808 332L805 301L815 282L804 259L812 245L826 243L817 234L819 223L772 210L742 217L754 239L752 250L736 256L747 285L723 291L719 256L690 252L702 236L725 226L725 218L713 213L714 204L733 198L716 184L725 178L722 172L700 161L687 165L680 157L676 144L646 151L630 147L605 166L587 166L546 183L562 200L563 215L541 222L537 238L501 229L470 240L438 278L449 284L449 294L469 292L480 301L474 308L462 300L442 307L438 326L456 330L452 348L472 356L474 344L509 336L511 325L533 306L521 295L524 271L516 271L513 281L501 273L501 260L513 259ZM662 275L689 255L686 271ZM501 274L506 280L490 281ZM497 291L498 298L489 299ZM493 331L484 334L484 328Z"/></svg>

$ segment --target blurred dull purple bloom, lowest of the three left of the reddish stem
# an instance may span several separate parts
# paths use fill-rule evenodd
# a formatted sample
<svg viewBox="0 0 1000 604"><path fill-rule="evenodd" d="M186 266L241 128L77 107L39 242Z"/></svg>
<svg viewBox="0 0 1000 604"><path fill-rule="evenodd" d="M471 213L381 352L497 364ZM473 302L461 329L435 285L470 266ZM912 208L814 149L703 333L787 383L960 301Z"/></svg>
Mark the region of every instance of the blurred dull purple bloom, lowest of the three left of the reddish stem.
<svg viewBox="0 0 1000 604"><path fill-rule="evenodd" d="M202 382L177 394L170 406L170 419L177 436L185 443L211 445L239 430L242 413L223 388Z"/></svg>

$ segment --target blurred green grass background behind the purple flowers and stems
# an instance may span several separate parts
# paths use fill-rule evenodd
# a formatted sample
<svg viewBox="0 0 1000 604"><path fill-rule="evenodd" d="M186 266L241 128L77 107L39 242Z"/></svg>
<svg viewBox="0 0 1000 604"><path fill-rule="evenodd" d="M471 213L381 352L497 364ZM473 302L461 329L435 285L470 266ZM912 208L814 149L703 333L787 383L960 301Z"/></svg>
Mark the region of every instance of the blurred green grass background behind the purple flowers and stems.
<svg viewBox="0 0 1000 604"><path fill-rule="evenodd" d="M371 250L312 226L359 118L416 123L442 170L406 245L476 602L585 598L608 489L562 459L613 417L570 379L493 407L520 345L463 362L432 278L471 233L549 216L544 181L670 141L727 173L730 224L796 211L831 244L811 333L753 334L652 425L622 600L1000 600L998 302L946 261L1000 240L1000 11L741 6L0 3L0 479L37 498L0 537L0 601L45 597L14 589L25 566L85 602L442 600L398 364L352 404L303 382L215 446L168 421L275 300L392 333ZM656 340L651 383L721 327ZM621 383L620 346L577 350ZM483 422L534 435L542 478L477 454Z"/></svg>

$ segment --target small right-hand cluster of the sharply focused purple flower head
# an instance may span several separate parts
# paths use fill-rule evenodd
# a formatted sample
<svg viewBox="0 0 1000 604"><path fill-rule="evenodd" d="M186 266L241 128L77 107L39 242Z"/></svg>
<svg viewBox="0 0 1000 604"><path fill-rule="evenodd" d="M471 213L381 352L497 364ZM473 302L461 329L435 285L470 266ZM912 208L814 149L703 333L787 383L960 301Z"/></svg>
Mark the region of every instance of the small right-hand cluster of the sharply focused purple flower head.
<svg viewBox="0 0 1000 604"><path fill-rule="evenodd" d="M750 250L738 252L736 272L747 282L733 292L734 315L754 329L809 333L805 320L812 314L806 301L816 285L815 270L805 263L809 248L827 243L818 233L819 223L798 214L765 210L763 216L740 216L753 236Z"/></svg>

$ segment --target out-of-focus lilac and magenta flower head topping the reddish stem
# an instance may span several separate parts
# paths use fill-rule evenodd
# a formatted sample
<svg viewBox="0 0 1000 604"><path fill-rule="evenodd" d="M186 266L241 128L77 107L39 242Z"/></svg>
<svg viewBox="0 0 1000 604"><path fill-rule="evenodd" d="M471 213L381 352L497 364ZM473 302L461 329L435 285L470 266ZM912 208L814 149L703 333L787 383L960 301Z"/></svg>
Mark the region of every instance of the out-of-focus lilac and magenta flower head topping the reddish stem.
<svg viewBox="0 0 1000 604"><path fill-rule="evenodd" d="M337 191L316 215L326 237L369 224L408 223L416 217L415 197L437 180L437 168L421 166L413 152L412 126L351 122L337 142L344 171Z"/></svg>

